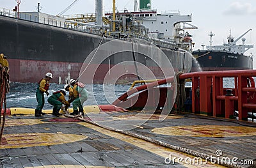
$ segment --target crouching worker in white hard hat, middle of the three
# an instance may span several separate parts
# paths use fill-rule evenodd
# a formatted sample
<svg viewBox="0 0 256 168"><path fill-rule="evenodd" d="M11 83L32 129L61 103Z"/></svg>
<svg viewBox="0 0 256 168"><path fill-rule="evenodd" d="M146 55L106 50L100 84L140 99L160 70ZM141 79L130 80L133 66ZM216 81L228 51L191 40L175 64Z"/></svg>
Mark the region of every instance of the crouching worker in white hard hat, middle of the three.
<svg viewBox="0 0 256 168"><path fill-rule="evenodd" d="M65 89L61 89L60 91L56 91L52 93L52 95L48 98L48 102L53 105L52 115L54 116L61 116L59 113L62 104L66 106L70 106L70 103L67 102L65 99L66 91Z"/></svg>

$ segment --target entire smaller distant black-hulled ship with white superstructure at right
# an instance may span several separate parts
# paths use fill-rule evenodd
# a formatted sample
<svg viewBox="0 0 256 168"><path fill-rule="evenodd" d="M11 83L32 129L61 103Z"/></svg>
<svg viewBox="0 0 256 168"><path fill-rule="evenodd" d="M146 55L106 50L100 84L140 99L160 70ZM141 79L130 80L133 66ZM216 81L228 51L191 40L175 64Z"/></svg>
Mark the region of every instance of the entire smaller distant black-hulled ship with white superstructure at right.
<svg viewBox="0 0 256 168"><path fill-rule="evenodd" d="M253 56L252 54L246 56L244 52L253 48L253 45L246 45L246 39L243 36L251 31L249 29L244 34L239 36L236 40L231 36L231 32L227 38L228 42L223 45L212 45L212 32L211 45L206 46L207 49L193 50L192 54L200 64L204 71L216 70L252 70L253 69ZM242 44L237 44L239 40Z"/></svg>

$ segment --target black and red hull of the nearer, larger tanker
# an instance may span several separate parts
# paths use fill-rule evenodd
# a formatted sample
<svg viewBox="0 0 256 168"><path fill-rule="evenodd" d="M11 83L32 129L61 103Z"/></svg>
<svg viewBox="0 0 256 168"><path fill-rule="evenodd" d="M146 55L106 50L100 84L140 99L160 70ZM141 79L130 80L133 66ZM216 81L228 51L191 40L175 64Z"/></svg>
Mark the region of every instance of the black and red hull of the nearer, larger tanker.
<svg viewBox="0 0 256 168"><path fill-rule="evenodd" d="M80 68L84 59L100 44L101 36L66 29L63 27L50 26L31 22L28 20L15 19L0 15L0 52L8 56L10 63L10 80L13 82L38 82L44 77L45 72L52 72L52 82L64 83L68 76L76 78L79 76ZM102 43L113 40L104 38ZM120 43L127 43L120 40ZM147 44L137 44L150 50ZM115 47L115 46L112 46ZM172 63L175 71L190 72L192 57L189 52L161 48ZM109 49L108 52L111 52ZM155 53L152 53L154 55ZM158 61L161 57L154 56ZM148 60L145 56L129 53L121 53L118 56L111 56L104 60L94 75L93 82L101 83L104 76L112 66L118 66L120 70L134 72L134 65L119 64L122 61L138 61L147 66L156 74L156 77L163 77L161 68L157 67L154 61ZM90 68L90 67L89 67ZM117 68L117 69L118 69ZM126 76L127 77L127 76ZM131 75L131 79L138 79ZM132 79L133 78L133 79Z"/></svg>

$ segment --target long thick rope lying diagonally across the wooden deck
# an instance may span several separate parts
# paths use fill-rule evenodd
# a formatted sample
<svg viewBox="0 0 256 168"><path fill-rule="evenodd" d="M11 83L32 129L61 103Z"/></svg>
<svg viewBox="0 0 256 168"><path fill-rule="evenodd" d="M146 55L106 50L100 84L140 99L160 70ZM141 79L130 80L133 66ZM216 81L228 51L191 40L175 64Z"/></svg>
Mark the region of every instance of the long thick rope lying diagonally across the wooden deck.
<svg viewBox="0 0 256 168"><path fill-rule="evenodd" d="M175 145L172 145L172 144L168 144L166 142L159 141L157 139L152 139L152 138L146 137L144 135L136 134L136 133L133 133L131 131L119 130L119 129L116 129L116 128L113 128L113 127L110 127L110 126L99 125L98 123L95 123L95 122L90 121L88 119L84 119L82 116L71 116L69 114L65 114L64 116L66 116L68 118L77 118L77 119L79 119L81 121L85 121L85 122L90 123L92 125L99 126L99 127L104 128L106 130L111 130L111 131L118 132L118 133L121 133L121 134L125 134L125 135L129 135L129 136L132 136L132 137L136 137L138 139L143 139L145 141L152 142L154 144L158 144L160 146L164 146L166 148L173 149L175 151L180 151L182 153L186 153L186 154L192 155L194 157L200 157L200 158L206 159L207 162L209 162L209 158L212 158L211 155L207 155L206 153L200 153L200 152L192 150L192 149L183 148L183 147L180 147L180 146L175 146ZM212 161L215 161L216 164L224 165L226 167L244 168L241 165L233 164L233 163L230 163L230 162L229 163L219 162L219 160L217 158L212 158Z"/></svg>

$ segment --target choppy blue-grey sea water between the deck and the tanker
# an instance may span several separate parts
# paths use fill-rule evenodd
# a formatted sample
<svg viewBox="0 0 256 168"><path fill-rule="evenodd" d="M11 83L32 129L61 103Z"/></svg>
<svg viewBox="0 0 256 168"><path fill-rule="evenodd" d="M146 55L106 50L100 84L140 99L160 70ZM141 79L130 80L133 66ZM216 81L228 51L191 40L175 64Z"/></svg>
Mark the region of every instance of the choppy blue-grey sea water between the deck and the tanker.
<svg viewBox="0 0 256 168"><path fill-rule="evenodd" d="M186 84L191 86L191 84ZM55 91L63 89L63 84L51 83L49 88L49 96ZM116 98L128 91L131 85L127 84L86 84L85 88L89 91L88 100L84 105L100 105L100 104L111 104ZM234 80L232 78L223 79L224 88L234 88ZM38 84L36 83L20 83L20 82L10 82L10 91L6 95L6 106L10 107L26 107L35 109L36 105L36 89ZM44 109L52 109L52 105L47 102L45 97ZM93 96L95 98L93 98ZM65 96L68 99L68 92Z"/></svg>

